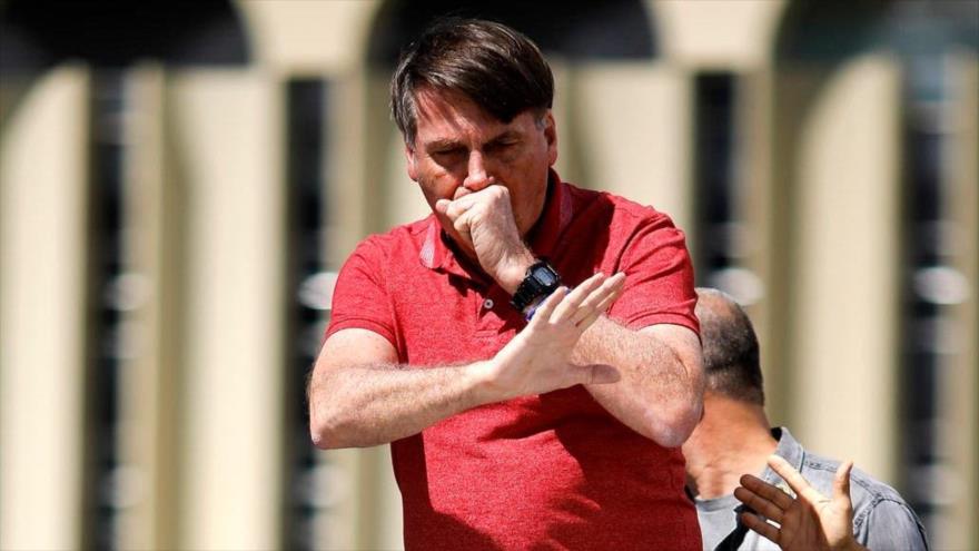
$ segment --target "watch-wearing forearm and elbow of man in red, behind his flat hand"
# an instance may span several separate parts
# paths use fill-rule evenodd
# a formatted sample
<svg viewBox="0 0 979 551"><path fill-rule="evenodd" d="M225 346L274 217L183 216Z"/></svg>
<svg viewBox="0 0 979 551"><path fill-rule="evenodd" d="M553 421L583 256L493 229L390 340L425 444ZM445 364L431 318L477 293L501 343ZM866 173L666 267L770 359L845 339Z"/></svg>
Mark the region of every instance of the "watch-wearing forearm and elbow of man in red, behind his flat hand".
<svg viewBox="0 0 979 551"><path fill-rule="evenodd" d="M703 406L699 350L685 356L654 334L629 329L603 316L578 341L572 361L617 368L619 383L587 385L589 392L634 431L674 447L693 431Z"/></svg>

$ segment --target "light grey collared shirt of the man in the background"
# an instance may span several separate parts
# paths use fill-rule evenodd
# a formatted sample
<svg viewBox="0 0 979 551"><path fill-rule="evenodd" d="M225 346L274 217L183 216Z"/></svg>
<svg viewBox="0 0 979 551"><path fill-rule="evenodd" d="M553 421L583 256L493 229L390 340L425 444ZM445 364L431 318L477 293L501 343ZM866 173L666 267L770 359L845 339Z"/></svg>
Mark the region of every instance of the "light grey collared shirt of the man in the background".
<svg viewBox="0 0 979 551"><path fill-rule="evenodd" d="M784 457L820 493L832 495L833 476L840 465L839 461L807 452L785 427L773 429L772 436L779 441L775 454ZM770 468L765 466L761 479L794 495L781 476ZM928 549L921 521L893 488L872 479L859 469L853 469L850 472L850 500L853 503L853 535L861 545L871 551ZM705 550L718 549L735 530L746 530L738 521L734 510L741 505L741 502L734 495L713 500L694 499L694 503ZM740 534L733 537L733 541L736 542L738 535ZM728 543L731 541L729 540ZM746 530L740 545L731 549L777 550L779 547Z"/></svg>

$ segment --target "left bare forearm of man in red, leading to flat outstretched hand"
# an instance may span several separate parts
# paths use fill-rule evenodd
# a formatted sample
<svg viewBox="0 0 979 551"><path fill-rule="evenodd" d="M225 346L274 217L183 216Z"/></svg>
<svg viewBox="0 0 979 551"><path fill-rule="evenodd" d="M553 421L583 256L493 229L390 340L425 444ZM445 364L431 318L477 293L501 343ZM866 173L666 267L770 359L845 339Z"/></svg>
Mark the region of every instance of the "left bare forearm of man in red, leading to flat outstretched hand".
<svg viewBox="0 0 979 551"><path fill-rule="evenodd" d="M322 370L309 384L310 429L323 449L385 444L486 403L479 365Z"/></svg>

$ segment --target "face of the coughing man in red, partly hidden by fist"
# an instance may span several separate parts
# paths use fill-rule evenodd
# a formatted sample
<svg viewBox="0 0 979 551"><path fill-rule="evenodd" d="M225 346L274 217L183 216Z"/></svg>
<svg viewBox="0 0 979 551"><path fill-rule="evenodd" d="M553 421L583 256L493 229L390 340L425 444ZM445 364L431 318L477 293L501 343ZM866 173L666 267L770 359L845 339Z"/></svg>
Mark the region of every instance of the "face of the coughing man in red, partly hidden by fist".
<svg viewBox="0 0 979 551"><path fill-rule="evenodd" d="M504 186L517 229L525 236L544 208L547 169L557 160L551 111L537 117L527 110L504 124L458 92L423 88L415 100L417 129L405 156L408 176L418 183L432 210L438 199ZM452 223L438 216L459 243Z"/></svg>

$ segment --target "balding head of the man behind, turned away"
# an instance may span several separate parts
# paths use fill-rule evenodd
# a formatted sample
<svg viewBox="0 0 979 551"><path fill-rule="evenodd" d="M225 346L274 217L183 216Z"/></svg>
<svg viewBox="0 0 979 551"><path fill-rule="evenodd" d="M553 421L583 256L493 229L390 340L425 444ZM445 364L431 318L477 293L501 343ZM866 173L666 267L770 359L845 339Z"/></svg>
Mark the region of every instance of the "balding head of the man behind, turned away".
<svg viewBox="0 0 979 551"><path fill-rule="evenodd" d="M698 287L696 295L706 390L764 405L758 337L748 314L718 289Z"/></svg>

